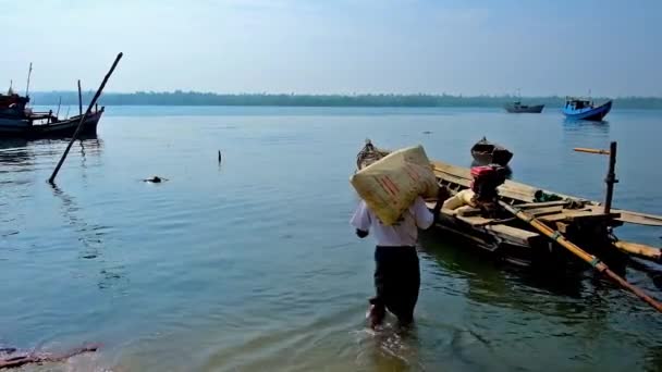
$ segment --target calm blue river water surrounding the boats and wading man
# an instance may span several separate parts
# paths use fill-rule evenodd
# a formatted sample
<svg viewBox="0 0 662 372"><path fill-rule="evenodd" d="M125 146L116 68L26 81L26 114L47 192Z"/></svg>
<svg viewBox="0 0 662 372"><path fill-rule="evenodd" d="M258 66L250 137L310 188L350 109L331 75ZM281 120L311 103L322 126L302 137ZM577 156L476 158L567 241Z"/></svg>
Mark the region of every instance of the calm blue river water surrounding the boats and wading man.
<svg viewBox="0 0 662 372"><path fill-rule="evenodd" d="M348 184L369 137L459 165L480 137L514 178L662 212L662 112L566 123L548 110L109 108L98 139L2 142L0 346L96 355L27 370L660 370L659 314L589 273L545 280L422 237L410 333L365 328L372 245L353 235ZM431 132L424 134L424 132ZM219 165L217 151L222 150ZM159 175L169 181L146 184ZM622 238L660 245L657 227ZM658 268L662 270L662 268ZM654 273L628 270L661 298Z"/></svg>

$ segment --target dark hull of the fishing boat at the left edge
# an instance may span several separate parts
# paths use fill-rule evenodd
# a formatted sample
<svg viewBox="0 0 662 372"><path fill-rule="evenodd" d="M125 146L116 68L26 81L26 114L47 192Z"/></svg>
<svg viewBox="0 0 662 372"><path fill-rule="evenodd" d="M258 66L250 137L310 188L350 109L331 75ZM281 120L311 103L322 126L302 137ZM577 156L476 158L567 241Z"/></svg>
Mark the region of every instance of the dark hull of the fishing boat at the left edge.
<svg viewBox="0 0 662 372"><path fill-rule="evenodd" d="M91 135L97 133L97 125L103 114L103 108L93 112L85 119L81 135ZM70 117L57 123L30 125L24 119L10 120L0 119L0 138L57 138L71 137L76 132L81 115Z"/></svg>

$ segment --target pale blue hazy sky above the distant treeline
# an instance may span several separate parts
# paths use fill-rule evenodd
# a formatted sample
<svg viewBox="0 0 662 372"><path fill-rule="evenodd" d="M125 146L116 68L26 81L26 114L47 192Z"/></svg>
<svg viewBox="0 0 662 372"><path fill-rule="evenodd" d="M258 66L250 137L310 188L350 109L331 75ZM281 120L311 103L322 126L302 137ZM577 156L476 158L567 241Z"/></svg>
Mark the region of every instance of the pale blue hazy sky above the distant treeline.
<svg viewBox="0 0 662 372"><path fill-rule="evenodd" d="M661 0L0 0L0 89L662 96Z"/></svg>

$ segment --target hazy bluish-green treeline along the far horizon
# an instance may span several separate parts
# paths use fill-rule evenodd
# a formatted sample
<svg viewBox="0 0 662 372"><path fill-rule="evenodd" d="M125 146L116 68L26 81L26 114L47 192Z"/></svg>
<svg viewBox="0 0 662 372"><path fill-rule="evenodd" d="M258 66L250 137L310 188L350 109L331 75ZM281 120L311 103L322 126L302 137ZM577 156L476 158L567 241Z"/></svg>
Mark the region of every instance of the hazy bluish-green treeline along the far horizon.
<svg viewBox="0 0 662 372"><path fill-rule="evenodd" d="M94 91L83 92L83 104L91 100ZM594 97L596 103L609 98ZM52 106L62 101L63 106L78 104L76 91L38 91L30 94L30 103ZM99 99L102 106L281 106L281 107L403 107L441 108L476 107L497 108L516 100L513 96L452 96L452 95L279 95L279 94L213 94L181 91L133 94L103 94ZM662 97L620 97L614 98L614 107L620 109L662 110ZM545 104L562 107L565 97L523 97L525 104Z"/></svg>

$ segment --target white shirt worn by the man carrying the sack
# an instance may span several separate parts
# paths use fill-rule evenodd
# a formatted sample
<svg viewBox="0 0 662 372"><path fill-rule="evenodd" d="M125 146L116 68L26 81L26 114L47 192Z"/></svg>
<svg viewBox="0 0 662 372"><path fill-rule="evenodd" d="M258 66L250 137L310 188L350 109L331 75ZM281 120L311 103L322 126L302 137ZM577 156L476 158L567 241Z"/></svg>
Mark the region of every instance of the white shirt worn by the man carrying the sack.
<svg viewBox="0 0 662 372"><path fill-rule="evenodd" d="M418 240L418 228L426 230L433 222L434 215L428 210L425 200L418 197L403 213L400 221L391 226L382 224L363 200L350 223L364 232L372 231L378 246L400 247L415 246Z"/></svg>

